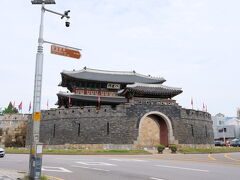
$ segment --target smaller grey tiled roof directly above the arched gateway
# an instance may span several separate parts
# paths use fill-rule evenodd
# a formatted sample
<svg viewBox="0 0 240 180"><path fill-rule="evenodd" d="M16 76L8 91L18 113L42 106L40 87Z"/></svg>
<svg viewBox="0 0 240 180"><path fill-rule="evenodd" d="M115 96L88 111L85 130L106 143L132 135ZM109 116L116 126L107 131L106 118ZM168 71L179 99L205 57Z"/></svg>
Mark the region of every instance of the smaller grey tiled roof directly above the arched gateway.
<svg viewBox="0 0 240 180"><path fill-rule="evenodd" d="M127 92L174 97L183 91L181 88L168 87L162 84L134 83L127 85L125 89L120 90L118 93L119 95L124 95Z"/></svg>

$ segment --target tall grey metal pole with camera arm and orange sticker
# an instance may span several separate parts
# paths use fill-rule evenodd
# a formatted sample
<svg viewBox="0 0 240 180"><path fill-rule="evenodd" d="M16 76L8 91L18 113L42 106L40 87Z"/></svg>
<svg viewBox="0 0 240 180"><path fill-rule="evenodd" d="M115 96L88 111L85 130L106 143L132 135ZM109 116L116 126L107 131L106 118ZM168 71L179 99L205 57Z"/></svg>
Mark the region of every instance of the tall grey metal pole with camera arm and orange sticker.
<svg viewBox="0 0 240 180"><path fill-rule="evenodd" d="M36 55L36 65L35 65L35 80L34 80L34 96L33 96L33 115L32 115L32 132L30 134L30 158L29 158L29 177L31 180L41 179L41 169L42 169L42 146L43 144L39 141L40 134L40 121L41 121L41 90L42 90L42 72L43 72L43 22L44 13L46 11L54 13L61 16L61 18L66 18L66 27L69 27L70 22L68 21L70 16L65 11L63 14L54 12L52 10L46 9L45 4L55 4L55 0L32 0L32 4L41 5L41 21L40 30L38 38L38 48Z"/></svg>

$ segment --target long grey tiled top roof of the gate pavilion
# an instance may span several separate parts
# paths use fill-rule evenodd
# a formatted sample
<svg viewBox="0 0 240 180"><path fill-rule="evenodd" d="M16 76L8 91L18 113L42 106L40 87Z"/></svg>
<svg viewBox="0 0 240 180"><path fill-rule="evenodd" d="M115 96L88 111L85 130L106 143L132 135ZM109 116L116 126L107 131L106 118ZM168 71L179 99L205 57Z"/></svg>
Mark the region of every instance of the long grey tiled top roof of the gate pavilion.
<svg viewBox="0 0 240 180"><path fill-rule="evenodd" d="M114 82L114 83L126 83L133 84L139 83L163 83L166 80L164 78L157 78L138 74L133 72L121 72L121 71L104 71L84 68L79 71L63 71L62 76L68 76L79 80L90 80L99 82Z"/></svg>

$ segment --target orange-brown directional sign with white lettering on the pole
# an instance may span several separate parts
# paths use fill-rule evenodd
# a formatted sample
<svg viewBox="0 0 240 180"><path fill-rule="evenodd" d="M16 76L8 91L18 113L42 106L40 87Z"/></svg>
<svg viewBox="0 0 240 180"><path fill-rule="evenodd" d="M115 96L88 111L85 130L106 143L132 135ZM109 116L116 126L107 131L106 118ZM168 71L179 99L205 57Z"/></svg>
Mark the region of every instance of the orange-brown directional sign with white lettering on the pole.
<svg viewBox="0 0 240 180"><path fill-rule="evenodd" d="M67 56L67 57L71 57L71 58L75 58L75 59L80 59L80 57L81 57L80 51L76 51L73 49L67 49L67 48L64 48L61 46L56 46L56 45L51 46L51 53L60 55L60 56Z"/></svg>

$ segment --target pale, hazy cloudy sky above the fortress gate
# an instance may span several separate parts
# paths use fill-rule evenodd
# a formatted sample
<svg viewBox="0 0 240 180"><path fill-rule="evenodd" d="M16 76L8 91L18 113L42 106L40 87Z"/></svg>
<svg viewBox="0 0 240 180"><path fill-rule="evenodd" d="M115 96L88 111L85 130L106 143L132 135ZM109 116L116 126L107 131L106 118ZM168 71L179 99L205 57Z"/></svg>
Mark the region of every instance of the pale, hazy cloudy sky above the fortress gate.
<svg viewBox="0 0 240 180"><path fill-rule="evenodd" d="M181 87L185 107L208 106L235 116L240 107L239 0L56 0L47 8L71 10L71 26L46 13L44 39L82 48L80 60L50 54L44 45L42 109L54 107L62 70L84 66L135 70ZM0 107L33 98L40 7L1 0Z"/></svg>

